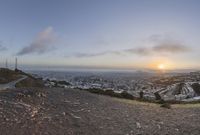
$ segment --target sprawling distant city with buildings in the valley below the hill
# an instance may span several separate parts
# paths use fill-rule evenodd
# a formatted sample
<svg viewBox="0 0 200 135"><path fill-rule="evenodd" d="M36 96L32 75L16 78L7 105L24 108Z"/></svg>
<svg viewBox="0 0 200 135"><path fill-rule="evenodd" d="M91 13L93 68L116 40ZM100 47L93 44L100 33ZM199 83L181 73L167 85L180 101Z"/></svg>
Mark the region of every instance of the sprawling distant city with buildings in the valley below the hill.
<svg viewBox="0 0 200 135"><path fill-rule="evenodd" d="M153 72L31 72L42 77L48 87L123 91L139 97L155 100L199 100L200 72L153 73ZM65 81L63 83L62 81ZM60 82L60 83L59 83ZM197 88L198 87L198 88Z"/></svg>

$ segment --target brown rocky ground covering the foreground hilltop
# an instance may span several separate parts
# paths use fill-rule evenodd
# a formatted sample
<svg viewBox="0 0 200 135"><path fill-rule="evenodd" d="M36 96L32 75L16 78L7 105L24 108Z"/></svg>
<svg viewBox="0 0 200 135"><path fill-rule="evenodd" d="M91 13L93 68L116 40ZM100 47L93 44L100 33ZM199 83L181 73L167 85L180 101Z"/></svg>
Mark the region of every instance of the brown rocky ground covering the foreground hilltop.
<svg viewBox="0 0 200 135"><path fill-rule="evenodd" d="M199 135L200 105L158 104L59 88L0 91L5 135Z"/></svg>

